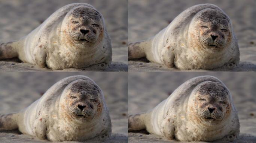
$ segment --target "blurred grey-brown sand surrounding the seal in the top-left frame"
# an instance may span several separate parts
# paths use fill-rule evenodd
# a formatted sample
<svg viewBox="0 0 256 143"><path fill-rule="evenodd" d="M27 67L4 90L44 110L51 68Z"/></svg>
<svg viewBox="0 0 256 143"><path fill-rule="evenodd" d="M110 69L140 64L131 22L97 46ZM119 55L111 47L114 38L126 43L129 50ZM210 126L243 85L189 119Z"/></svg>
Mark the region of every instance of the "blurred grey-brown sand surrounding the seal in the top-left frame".
<svg viewBox="0 0 256 143"><path fill-rule="evenodd" d="M102 13L112 39L113 60L105 71L127 71L128 10L126 0L0 0L0 42L19 39L37 28L59 8L70 3L89 3ZM118 13L118 14L117 14ZM1 60L0 71L52 71L16 59ZM65 69L62 71L84 71Z"/></svg>

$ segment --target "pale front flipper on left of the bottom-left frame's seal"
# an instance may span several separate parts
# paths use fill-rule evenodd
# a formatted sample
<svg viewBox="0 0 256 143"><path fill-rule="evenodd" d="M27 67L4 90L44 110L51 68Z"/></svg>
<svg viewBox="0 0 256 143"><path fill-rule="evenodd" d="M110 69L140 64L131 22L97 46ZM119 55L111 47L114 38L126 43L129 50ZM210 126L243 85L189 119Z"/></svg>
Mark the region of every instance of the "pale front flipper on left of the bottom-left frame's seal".
<svg viewBox="0 0 256 143"><path fill-rule="evenodd" d="M41 140L46 139L46 118L38 116L33 125L33 132Z"/></svg>

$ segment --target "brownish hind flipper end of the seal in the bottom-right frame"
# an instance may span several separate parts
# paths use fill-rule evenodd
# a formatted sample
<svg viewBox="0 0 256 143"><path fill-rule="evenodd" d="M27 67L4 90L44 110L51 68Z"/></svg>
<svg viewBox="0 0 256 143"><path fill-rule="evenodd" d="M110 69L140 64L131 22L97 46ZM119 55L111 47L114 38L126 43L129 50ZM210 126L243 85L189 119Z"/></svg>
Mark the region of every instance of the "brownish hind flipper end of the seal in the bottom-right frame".
<svg viewBox="0 0 256 143"><path fill-rule="evenodd" d="M128 131L142 130L146 128L144 118L146 113L139 113L129 115L128 117Z"/></svg>

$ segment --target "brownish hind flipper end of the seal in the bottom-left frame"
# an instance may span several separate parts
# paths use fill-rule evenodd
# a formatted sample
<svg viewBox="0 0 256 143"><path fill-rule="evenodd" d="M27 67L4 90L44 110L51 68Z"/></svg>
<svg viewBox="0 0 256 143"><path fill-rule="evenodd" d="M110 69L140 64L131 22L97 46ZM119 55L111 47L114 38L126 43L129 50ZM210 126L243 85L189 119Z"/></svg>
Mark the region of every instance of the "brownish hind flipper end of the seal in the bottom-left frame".
<svg viewBox="0 0 256 143"><path fill-rule="evenodd" d="M18 113L0 115L0 131L17 129L17 116Z"/></svg>

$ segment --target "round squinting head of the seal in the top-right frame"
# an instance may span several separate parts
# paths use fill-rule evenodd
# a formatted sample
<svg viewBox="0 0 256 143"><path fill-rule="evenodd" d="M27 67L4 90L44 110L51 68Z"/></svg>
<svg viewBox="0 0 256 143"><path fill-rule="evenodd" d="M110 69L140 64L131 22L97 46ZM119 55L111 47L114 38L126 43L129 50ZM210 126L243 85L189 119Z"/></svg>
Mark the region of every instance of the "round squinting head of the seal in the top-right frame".
<svg viewBox="0 0 256 143"><path fill-rule="evenodd" d="M207 53L221 52L231 43L231 26L228 16L221 10L201 10L192 19L189 28L191 40L199 42L197 47L202 47Z"/></svg>

